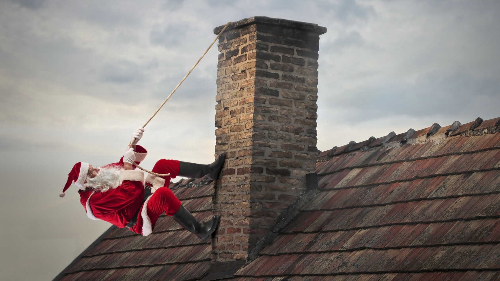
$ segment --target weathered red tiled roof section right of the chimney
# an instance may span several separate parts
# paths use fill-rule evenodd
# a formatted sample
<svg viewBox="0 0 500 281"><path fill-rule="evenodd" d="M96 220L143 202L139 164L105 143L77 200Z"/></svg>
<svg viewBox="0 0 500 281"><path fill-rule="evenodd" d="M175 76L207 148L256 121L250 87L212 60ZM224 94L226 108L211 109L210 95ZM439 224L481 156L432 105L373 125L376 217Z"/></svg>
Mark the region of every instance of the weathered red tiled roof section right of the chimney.
<svg viewBox="0 0 500 281"><path fill-rule="evenodd" d="M498 125L433 124L321 152L316 195L231 280L497 280Z"/></svg>

